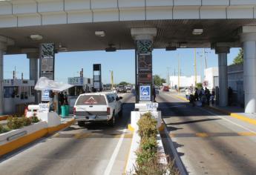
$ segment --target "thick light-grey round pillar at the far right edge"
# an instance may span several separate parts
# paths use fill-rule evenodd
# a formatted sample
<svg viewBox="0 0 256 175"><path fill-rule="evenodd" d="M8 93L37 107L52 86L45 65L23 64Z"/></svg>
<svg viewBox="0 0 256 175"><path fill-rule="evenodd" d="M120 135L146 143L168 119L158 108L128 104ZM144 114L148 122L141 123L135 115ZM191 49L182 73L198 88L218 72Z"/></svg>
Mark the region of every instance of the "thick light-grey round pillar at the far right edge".
<svg viewBox="0 0 256 175"><path fill-rule="evenodd" d="M256 113L256 26L242 27L245 113Z"/></svg>

